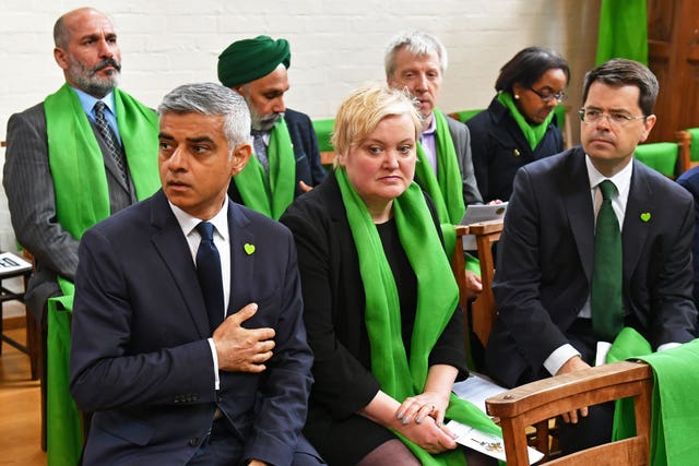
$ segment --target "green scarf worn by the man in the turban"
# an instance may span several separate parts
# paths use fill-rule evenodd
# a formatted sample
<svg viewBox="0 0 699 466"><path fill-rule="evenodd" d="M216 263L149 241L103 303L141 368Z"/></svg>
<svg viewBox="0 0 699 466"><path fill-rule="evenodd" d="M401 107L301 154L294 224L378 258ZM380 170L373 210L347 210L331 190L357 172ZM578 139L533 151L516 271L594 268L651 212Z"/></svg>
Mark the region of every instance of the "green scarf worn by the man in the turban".
<svg viewBox="0 0 699 466"><path fill-rule="evenodd" d="M262 164L254 156L234 178L244 204L276 220L294 201L296 182L294 144L284 119L272 128L266 155L270 160L269 182Z"/></svg>

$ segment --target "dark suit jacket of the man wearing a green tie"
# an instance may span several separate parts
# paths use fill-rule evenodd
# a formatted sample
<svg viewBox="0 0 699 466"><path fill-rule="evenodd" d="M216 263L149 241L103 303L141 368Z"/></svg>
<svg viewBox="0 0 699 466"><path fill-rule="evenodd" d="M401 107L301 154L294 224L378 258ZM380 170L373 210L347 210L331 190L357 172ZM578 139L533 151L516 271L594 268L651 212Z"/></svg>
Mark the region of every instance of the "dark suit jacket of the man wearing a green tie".
<svg viewBox="0 0 699 466"><path fill-rule="evenodd" d="M521 168L498 244L493 290L498 314L486 365L507 386L569 343L565 332L590 295L594 211L581 147ZM657 346L694 338L694 202L632 160L621 241L625 324ZM641 214L649 213L643 222Z"/></svg>

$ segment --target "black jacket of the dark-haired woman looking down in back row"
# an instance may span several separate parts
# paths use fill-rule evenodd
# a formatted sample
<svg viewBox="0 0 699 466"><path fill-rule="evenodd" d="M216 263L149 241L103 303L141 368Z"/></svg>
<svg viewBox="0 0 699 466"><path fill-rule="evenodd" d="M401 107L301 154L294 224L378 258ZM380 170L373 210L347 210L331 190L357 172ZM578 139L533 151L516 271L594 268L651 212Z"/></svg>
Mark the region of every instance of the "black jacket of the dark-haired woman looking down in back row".
<svg viewBox="0 0 699 466"><path fill-rule="evenodd" d="M554 117L544 139L532 151L512 115L497 98L487 110L466 121L471 130L473 167L485 202L509 200L518 168L564 150L562 134L556 124Z"/></svg>

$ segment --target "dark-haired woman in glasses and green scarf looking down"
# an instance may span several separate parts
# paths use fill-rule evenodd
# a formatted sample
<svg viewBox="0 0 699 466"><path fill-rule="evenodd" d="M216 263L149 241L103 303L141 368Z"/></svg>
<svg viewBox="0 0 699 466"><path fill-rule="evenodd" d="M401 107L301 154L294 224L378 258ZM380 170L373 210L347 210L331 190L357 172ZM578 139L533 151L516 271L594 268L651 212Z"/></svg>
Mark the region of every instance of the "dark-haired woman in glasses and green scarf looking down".
<svg viewBox="0 0 699 466"><path fill-rule="evenodd" d="M564 150L554 109L569 81L568 62L546 47L520 50L502 67L490 106L466 122L485 202L509 200L520 167Z"/></svg>

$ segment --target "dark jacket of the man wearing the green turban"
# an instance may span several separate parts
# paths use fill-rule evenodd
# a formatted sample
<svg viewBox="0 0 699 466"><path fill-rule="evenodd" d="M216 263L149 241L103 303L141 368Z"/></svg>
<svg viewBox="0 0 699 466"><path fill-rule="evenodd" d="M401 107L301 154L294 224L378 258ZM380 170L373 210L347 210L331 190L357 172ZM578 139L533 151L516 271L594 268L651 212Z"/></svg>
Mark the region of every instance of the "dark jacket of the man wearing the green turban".
<svg viewBox="0 0 699 466"><path fill-rule="evenodd" d="M325 178L325 169L320 163L318 139L308 115L287 108L284 112L284 120L292 138L292 144L294 144L294 157L296 158L294 198L297 198L304 192L298 187L298 182L304 181L309 187L320 184ZM235 178L230 179L228 195L238 204L242 204L242 198L240 198L240 192L236 187Z"/></svg>

